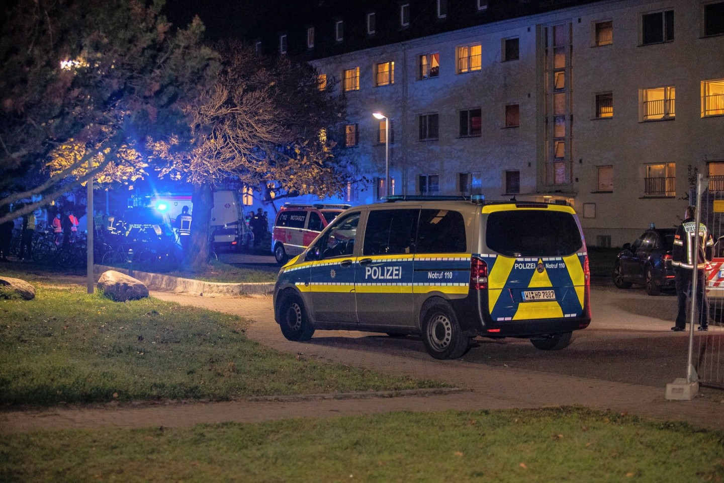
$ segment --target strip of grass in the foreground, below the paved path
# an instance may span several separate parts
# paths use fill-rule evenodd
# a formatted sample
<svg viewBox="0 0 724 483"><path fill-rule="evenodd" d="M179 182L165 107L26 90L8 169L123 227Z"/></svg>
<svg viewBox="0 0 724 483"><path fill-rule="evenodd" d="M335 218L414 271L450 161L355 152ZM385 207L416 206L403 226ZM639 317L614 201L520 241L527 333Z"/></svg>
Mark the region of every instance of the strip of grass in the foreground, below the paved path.
<svg viewBox="0 0 724 483"><path fill-rule="evenodd" d="M12 434L0 441L0 480L721 482L723 441L584 408L403 412Z"/></svg>

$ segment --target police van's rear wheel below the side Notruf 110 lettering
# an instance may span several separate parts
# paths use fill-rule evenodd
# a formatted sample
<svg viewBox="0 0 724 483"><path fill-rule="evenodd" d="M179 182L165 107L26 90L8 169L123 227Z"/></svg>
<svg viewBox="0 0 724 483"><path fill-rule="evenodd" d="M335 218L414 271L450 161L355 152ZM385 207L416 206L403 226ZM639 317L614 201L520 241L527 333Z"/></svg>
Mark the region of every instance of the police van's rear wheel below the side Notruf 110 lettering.
<svg viewBox="0 0 724 483"><path fill-rule="evenodd" d="M470 337L463 334L455 312L445 302L427 309L421 329L425 348L436 359L456 359L470 349Z"/></svg>

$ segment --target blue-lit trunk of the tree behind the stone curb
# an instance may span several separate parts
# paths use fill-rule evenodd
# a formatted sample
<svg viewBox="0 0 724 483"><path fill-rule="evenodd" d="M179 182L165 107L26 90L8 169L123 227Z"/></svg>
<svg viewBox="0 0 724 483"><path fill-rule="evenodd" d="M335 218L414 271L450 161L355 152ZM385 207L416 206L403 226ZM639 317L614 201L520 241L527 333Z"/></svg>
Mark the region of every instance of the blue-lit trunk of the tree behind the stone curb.
<svg viewBox="0 0 724 483"><path fill-rule="evenodd" d="M184 265L190 270L201 270L206 267L209 258L209 224L211 223L211 208L214 206L214 192L211 183L205 182L201 185L192 185L191 202L193 212L191 213L191 235L186 253L184 253Z"/></svg>

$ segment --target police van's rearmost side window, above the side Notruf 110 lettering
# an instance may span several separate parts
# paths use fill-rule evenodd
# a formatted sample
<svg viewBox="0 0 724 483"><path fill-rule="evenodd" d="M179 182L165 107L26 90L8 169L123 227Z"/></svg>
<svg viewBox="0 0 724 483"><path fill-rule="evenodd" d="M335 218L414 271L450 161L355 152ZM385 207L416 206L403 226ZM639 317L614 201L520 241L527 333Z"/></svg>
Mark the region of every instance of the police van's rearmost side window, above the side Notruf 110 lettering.
<svg viewBox="0 0 724 483"><path fill-rule="evenodd" d="M465 220L458 211L420 212L416 253L465 253L466 240Z"/></svg>

